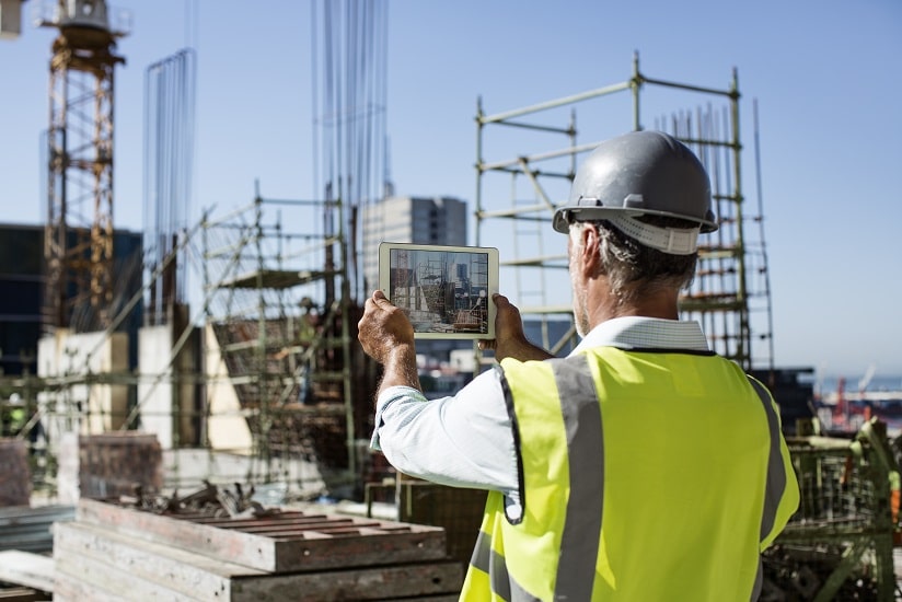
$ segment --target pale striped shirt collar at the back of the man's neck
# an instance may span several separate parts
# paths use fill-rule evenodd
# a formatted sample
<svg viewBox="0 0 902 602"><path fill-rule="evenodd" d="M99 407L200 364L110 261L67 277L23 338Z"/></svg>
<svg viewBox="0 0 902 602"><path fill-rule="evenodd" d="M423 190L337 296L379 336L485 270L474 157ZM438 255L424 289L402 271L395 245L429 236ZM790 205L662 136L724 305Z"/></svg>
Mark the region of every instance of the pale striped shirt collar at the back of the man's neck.
<svg viewBox="0 0 902 602"><path fill-rule="evenodd" d="M602 322L586 335L570 355L591 347L710 350L697 322L632 315Z"/></svg>

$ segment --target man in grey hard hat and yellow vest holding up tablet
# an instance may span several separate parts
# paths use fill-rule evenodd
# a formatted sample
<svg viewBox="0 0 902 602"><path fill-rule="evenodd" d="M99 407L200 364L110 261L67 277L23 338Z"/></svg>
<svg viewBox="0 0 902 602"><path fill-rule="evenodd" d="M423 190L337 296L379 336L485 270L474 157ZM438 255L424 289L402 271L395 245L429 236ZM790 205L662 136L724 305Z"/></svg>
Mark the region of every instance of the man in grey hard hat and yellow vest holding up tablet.
<svg viewBox="0 0 902 602"><path fill-rule="evenodd" d="M372 447L489 490L462 600L756 599L798 486L770 393L679 320L697 236L717 229L704 167L664 134L605 141L554 229L583 337L567 358L496 296L481 346L500 367L427 401L409 322L381 291L367 301L359 338L384 367Z"/></svg>

